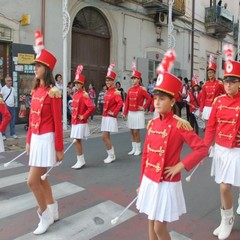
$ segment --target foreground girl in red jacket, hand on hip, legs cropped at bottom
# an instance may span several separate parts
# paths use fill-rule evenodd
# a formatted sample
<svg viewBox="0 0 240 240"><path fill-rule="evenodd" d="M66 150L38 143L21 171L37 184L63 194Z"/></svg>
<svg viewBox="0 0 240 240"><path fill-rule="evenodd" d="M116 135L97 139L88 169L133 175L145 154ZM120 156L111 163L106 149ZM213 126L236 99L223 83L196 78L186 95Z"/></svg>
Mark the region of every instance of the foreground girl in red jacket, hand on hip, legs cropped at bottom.
<svg viewBox="0 0 240 240"><path fill-rule="evenodd" d="M174 58L173 58L174 57ZM170 59L169 59L170 58ZM168 71L174 61L173 50L162 60L161 72L154 88L154 107L159 116L147 127L143 149L137 208L148 215L149 240L170 240L167 223L177 221L186 213L181 171L187 171L207 156L207 147L191 125L173 113L181 81ZM192 153L180 160L183 144Z"/></svg>

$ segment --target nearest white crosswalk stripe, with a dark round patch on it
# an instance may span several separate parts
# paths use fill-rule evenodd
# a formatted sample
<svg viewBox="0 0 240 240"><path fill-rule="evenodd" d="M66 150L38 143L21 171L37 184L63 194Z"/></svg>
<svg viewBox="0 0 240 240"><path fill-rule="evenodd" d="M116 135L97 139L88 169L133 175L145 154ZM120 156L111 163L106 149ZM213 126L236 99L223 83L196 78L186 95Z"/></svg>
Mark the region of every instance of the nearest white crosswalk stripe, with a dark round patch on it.
<svg viewBox="0 0 240 240"><path fill-rule="evenodd" d="M41 240L89 240L114 227L111 220L115 218L124 208L112 201L106 201L88 208L82 212L70 217L61 219L52 225L47 233L37 237ZM118 223L128 220L135 216L136 213L127 210L119 219ZM32 240L33 234L29 233L16 240Z"/></svg>

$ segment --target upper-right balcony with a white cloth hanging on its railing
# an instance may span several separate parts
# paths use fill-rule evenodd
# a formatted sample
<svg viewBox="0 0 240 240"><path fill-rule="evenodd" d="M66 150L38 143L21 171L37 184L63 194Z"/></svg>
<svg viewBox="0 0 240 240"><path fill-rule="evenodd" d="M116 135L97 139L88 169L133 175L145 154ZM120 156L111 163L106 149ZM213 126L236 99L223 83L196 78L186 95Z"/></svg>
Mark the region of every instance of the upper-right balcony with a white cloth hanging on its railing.
<svg viewBox="0 0 240 240"><path fill-rule="evenodd" d="M218 38L225 38L233 31L234 16L227 9L219 6L205 8L206 33Z"/></svg>

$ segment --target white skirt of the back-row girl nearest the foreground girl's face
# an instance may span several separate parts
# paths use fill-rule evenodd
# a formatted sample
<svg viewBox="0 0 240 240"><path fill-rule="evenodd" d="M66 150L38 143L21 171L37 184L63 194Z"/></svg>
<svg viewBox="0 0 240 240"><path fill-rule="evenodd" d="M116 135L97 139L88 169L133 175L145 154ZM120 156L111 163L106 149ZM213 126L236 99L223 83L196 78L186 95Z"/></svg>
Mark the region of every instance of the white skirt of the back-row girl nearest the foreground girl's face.
<svg viewBox="0 0 240 240"><path fill-rule="evenodd" d="M127 127L129 129L144 129L145 115L144 111L128 112Z"/></svg>

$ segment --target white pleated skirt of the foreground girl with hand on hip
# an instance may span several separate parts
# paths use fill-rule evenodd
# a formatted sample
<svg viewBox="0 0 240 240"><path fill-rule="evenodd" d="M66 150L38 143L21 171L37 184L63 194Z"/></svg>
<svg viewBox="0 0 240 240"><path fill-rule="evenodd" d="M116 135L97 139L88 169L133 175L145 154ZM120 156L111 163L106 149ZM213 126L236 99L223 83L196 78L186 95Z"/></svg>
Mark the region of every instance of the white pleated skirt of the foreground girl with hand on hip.
<svg viewBox="0 0 240 240"><path fill-rule="evenodd" d="M136 207L149 220L173 222L186 213L182 182L156 183L143 176Z"/></svg>

